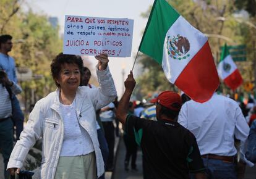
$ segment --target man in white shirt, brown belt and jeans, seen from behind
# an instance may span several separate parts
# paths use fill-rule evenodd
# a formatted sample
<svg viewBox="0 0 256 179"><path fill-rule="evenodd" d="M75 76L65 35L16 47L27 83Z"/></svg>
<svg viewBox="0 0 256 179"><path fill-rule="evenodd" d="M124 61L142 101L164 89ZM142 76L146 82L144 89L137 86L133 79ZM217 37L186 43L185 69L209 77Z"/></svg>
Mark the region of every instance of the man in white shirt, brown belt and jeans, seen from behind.
<svg viewBox="0 0 256 179"><path fill-rule="evenodd" d="M197 138L208 178L237 178L234 136L241 140L243 148L249 127L236 101L218 94L204 103L187 101L178 122ZM242 151L241 160L247 161Z"/></svg>

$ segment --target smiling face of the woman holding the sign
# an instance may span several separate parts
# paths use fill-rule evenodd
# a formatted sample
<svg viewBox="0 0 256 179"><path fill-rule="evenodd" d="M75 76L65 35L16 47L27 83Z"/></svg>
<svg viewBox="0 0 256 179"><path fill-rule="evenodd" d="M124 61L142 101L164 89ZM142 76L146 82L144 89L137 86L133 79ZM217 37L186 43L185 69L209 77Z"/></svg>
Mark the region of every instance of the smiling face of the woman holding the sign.
<svg viewBox="0 0 256 179"><path fill-rule="evenodd" d="M80 70L77 64L64 64L57 82L62 90L76 91L80 85Z"/></svg>

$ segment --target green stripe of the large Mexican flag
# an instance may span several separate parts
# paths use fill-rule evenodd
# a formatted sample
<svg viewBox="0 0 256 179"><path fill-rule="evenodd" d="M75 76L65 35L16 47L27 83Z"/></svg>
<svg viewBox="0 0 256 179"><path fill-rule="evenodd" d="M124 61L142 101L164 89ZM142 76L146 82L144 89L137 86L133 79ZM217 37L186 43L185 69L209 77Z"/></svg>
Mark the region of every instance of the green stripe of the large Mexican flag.
<svg viewBox="0 0 256 179"><path fill-rule="evenodd" d="M148 18L139 51L155 59L163 59L163 44L167 31L179 18L179 14L165 0L155 0Z"/></svg>

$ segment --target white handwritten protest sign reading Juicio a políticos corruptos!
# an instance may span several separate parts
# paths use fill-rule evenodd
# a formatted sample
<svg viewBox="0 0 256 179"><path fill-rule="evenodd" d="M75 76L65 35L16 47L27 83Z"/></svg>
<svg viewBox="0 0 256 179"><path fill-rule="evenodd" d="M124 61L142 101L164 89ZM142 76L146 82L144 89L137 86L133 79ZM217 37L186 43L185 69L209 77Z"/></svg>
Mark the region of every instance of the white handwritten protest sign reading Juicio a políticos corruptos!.
<svg viewBox="0 0 256 179"><path fill-rule="evenodd" d="M129 57L134 20L66 15L64 54Z"/></svg>

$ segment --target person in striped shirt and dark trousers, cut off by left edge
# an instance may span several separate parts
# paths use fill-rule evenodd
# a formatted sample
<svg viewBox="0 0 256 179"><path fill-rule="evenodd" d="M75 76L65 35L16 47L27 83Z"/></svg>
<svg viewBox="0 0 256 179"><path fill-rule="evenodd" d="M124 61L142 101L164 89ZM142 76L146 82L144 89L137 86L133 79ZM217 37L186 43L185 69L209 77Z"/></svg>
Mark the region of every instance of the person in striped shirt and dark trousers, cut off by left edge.
<svg viewBox="0 0 256 179"><path fill-rule="evenodd" d="M14 125L12 123L12 95L21 93L21 88L9 80L7 74L0 70L0 152L4 158L4 178L9 178L6 171L14 144Z"/></svg>

